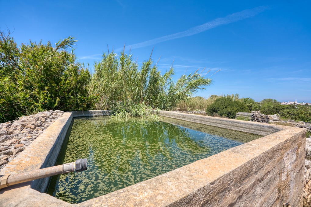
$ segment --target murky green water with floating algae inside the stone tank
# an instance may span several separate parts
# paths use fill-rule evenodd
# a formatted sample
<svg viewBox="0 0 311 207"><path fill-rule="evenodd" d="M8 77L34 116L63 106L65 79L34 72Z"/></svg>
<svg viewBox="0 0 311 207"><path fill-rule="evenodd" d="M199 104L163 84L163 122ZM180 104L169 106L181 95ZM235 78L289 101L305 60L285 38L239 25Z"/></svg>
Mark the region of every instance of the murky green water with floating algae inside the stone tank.
<svg viewBox="0 0 311 207"><path fill-rule="evenodd" d="M74 119L56 165L87 158L87 170L53 176L47 193L81 203L259 137L165 117Z"/></svg>

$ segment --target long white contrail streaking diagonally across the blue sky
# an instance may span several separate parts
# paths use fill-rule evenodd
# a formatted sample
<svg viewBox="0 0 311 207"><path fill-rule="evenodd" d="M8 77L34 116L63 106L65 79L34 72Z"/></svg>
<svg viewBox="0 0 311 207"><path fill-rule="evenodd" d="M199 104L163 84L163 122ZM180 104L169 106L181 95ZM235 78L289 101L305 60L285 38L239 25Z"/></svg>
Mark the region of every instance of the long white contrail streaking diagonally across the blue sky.
<svg viewBox="0 0 311 207"><path fill-rule="evenodd" d="M247 10L243 10L240 12L236 12L236 13L230 14L226 17L217 18L215 20L212 20L212 21L207 22L205 24L193 27L193 28L188 29L188 30L183 31L183 32L165 35L163 37L158 37L158 38L148 40L145 42L126 46L124 48L124 50L129 50L130 48L135 49L135 48L140 48L140 47L146 47L149 45L154 45L154 44L159 43L159 42L165 42L168 40L177 39L177 38L181 38L181 37L188 37L188 36L191 36L191 35L194 35L197 33L201 33L201 32L204 32L204 31L212 29L212 28L215 28L215 27L223 25L223 24L230 24L232 22L236 22L239 20L243 20L243 19L255 16L255 15L259 14L260 12L267 10L268 8L269 7L262 6L262 7L255 7L253 9L247 9ZM123 50L123 47L118 48L116 51L121 51L121 50Z"/></svg>

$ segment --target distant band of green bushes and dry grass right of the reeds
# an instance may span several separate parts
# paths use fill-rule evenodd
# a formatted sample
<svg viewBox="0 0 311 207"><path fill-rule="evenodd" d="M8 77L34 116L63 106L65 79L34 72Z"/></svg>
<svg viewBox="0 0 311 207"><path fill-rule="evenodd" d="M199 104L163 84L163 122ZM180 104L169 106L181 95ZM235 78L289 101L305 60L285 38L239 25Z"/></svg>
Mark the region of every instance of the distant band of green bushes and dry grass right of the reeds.
<svg viewBox="0 0 311 207"><path fill-rule="evenodd" d="M255 102L251 98L239 98L233 95L211 95L190 98L188 102L179 102L180 110L206 111L209 116L234 119L237 112L259 111L266 115L278 114L283 120L311 121L311 107L308 105L281 105L276 99L263 99Z"/></svg>

